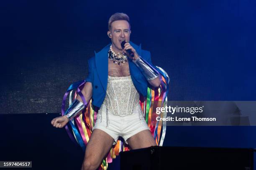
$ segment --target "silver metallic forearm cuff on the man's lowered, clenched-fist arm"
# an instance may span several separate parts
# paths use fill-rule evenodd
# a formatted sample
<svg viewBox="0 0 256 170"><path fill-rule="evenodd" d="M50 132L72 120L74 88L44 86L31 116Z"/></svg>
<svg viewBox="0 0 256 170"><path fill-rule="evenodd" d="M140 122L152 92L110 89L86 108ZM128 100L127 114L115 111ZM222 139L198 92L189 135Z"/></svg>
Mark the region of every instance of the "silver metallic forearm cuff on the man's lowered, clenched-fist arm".
<svg viewBox="0 0 256 170"><path fill-rule="evenodd" d="M72 104L69 106L67 111L65 112L65 115L68 117L69 120L71 120L73 117L75 117L83 109L84 109L84 103L75 99L72 102Z"/></svg>

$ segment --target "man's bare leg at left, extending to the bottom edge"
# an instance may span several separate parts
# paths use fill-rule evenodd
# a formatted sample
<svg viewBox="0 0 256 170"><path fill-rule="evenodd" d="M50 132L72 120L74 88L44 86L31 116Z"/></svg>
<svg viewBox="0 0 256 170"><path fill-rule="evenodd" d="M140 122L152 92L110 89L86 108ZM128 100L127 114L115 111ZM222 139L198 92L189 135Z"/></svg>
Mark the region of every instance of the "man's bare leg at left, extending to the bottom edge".
<svg viewBox="0 0 256 170"><path fill-rule="evenodd" d="M114 139L104 131L100 129L93 130L85 150L81 170L96 170L105 155L110 151L113 142Z"/></svg>

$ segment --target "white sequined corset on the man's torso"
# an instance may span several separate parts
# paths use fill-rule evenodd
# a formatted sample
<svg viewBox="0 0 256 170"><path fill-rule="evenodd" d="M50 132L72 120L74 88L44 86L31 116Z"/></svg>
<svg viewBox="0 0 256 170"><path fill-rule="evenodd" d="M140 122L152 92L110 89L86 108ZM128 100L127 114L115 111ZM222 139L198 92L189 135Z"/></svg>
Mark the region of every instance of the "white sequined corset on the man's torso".
<svg viewBox="0 0 256 170"><path fill-rule="evenodd" d="M113 115L131 115L138 108L139 97L131 75L127 77L108 76L107 94L103 104Z"/></svg>

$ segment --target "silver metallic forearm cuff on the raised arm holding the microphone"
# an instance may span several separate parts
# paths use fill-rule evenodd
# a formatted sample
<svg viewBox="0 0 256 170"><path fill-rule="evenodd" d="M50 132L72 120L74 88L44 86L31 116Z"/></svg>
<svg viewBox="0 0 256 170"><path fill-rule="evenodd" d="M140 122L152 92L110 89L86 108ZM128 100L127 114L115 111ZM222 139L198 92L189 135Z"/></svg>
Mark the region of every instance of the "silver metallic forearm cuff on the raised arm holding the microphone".
<svg viewBox="0 0 256 170"><path fill-rule="evenodd" d="M134 64L141 70L142 74L146 77L146 79L154 80L156 77L159 76L158 71L154 69L146 60L144 60L141 56L138 59L133 60Z"/></svg>

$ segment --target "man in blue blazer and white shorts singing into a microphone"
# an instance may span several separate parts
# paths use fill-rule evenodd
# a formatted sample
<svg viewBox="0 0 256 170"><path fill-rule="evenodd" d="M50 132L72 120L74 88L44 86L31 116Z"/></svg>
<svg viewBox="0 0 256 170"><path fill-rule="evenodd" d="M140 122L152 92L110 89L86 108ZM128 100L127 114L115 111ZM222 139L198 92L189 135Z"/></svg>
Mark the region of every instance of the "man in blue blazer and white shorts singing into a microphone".
<svg viewBox="0 0 256 170"><path fill-rule="evenodd" d="M158 89L162 76L152 65L150 52L130 42L128 15L113 14L108 29L111 43L88 61L89 75L81 90L86 103L77 95L66 114L51 121L56 128L64 127L87 107L90 100L99 108L82 170L97 169L119 137L131 149L157 145L145 121L140 95L146 97L148 87ZM122 48L123 41L126 43Z"/></svg>

